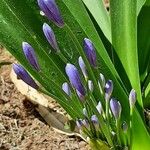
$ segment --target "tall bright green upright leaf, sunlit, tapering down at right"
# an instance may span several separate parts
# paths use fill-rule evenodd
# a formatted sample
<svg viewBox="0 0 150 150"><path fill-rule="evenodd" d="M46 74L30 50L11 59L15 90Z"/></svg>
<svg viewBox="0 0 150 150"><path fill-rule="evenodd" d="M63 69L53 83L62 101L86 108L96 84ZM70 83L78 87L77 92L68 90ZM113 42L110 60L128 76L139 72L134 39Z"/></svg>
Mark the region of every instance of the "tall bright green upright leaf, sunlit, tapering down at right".
<svg viewBox="0 0 150 150"><path fill-rule="evenodd" d="M143 107L136 40L136 1L112 0L110 4L112 44L132 87L138 93L139 105Z"/></svg>

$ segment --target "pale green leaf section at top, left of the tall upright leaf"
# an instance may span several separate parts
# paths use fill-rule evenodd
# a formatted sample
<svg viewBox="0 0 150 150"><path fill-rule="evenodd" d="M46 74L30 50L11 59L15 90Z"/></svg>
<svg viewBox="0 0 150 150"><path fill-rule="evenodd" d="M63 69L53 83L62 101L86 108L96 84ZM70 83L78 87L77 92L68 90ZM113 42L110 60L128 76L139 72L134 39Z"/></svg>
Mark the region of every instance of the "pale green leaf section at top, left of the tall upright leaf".
<svg viewBox="0 0 150 150"><path fill-rule="evenodd" d="M110 17L108 11L104 7L104 2L102 0L92 0L92 3L91 0L82 1L93 15L106 38L111 42Z"/></svg>

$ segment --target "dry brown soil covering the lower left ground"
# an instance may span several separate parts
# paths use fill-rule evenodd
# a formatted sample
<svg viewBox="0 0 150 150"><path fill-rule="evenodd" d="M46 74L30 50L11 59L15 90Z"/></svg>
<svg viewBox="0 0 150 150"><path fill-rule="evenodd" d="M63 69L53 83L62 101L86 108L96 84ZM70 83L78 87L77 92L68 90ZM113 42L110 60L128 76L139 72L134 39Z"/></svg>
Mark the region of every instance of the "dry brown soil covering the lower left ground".
<svg viewBox="0 0 150 150"><path fill-rule="evenodd" d="M0 61L15 59L0 49ZM10 70L11 65L0 68L0 150L88 150L80 138L60 134L45 123L11 82Z"/></svg>

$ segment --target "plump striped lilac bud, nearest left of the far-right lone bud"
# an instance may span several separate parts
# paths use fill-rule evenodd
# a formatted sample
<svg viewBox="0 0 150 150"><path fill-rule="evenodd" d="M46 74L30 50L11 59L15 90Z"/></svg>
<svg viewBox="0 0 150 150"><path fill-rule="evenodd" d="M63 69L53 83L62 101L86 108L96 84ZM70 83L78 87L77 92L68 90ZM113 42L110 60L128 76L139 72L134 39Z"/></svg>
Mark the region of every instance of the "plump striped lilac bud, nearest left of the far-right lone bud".
<svg viewBox="0 0 150 150"><path fill-rule="evenodd" d="M111 111L112 111L115 119L117 120L120 117L121 110L122 110L120 102L115 100L114 98L112 98L110 100L110 108L111 108Z"/></svg>

